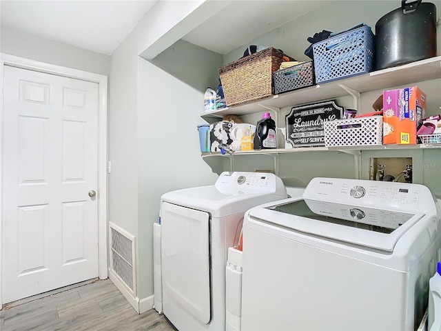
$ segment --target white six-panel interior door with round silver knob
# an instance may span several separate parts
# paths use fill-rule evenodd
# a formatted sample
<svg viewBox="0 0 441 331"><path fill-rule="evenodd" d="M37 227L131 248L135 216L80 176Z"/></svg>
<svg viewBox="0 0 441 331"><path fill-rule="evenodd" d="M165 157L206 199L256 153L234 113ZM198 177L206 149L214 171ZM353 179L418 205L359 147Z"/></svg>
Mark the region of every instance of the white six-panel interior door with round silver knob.
<svg viewBox="0 0 441 331"><path fill-rule="evenodd" d="M3 303L98 277L98 84L4 67ZM93 194L92 194L93 195Z"/></svg>

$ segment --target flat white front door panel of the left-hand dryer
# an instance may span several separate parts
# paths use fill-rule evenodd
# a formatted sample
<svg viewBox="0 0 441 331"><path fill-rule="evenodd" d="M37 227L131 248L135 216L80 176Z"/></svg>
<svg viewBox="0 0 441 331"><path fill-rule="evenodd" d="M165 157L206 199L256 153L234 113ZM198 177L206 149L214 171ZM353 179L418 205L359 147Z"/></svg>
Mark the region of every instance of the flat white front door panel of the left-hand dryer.
<svg viewBox="0 0 441 331"><path fill-rule="evenodd" d="M161 254L164 314L172 321L184 310L209 323L209 214L163 202Z"/></svg>

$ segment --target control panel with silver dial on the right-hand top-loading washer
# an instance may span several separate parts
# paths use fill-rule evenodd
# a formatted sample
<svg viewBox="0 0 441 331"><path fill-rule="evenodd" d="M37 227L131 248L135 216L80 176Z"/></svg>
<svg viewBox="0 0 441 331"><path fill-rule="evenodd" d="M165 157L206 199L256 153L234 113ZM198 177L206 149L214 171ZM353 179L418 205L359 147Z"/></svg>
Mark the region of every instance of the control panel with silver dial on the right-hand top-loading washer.
<svg viewBox="0 0 441 331"><path fill-rule="evenodd" d="M430 190L420 184L358 179L311 179L303 197L334 203L349 203L397 210L429 210L434 198Z"/></svg>

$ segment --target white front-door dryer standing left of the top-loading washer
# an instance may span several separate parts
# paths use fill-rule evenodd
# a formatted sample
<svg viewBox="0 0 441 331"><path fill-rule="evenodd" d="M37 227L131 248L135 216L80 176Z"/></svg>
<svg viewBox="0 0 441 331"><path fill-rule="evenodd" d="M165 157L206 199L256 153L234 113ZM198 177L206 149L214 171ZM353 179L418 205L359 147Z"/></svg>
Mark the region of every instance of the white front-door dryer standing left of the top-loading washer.
<svg viewBox="0 0 441 331"><path fill-rule="evenodd" d="M287 198L261 172L223 172L214 185L161 197L163 312L179 330L225 330L225 265L245 211Z"/></svg>

